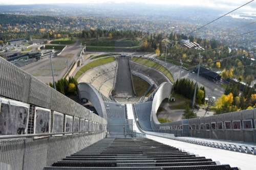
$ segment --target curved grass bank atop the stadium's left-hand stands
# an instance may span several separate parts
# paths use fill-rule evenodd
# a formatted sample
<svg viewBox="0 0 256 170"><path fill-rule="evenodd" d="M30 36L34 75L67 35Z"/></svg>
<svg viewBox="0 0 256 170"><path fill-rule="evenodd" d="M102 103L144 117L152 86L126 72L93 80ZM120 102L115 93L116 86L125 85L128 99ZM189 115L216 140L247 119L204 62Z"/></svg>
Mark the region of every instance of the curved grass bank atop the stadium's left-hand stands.
<svg viewBox="0 0 256 170"><path fill-rule="evenodd" d="M92 61L89 64L84 65L82 68L80 68L77 71L77 73L75 75L75 79L77 80L84 72L86 72L87 70L89 70L93 67L104 65L104 64L107 64L107 63L110 63L110 62L113 62L113 61L115 61L115 57L101 58L101 59Z"/></svg>

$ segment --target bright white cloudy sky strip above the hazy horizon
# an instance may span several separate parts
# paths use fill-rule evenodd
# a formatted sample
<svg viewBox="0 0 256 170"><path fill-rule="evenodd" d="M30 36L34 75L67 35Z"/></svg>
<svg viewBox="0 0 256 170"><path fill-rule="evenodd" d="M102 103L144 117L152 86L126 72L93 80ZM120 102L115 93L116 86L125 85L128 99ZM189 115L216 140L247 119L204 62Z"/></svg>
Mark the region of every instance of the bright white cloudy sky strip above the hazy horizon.
<svg viewBox="0 0 256 170"><path fill-rule="evenodd" d="M184 6L184 7L200 7L200 8L212 8L212 9L234 9L237 8L238 6L241 6L245 3L249 2L249 0L241 0L241 1L232 1L232 0L228 0L228 1L220 1L220 0L216 0L216 1L202 1L202 0L195 0L195 1L189 1L189 0L183 0L183 1L166 1L166 0L159 0L159 1L152 1L152 0L141 0L141 1L137 1L135 2L134 0L130 1L130 0L112 0L112 1L104 1L104 0L100 0L100 1L82 1L82 0L73 0L72 3L70 3L70 1L68 0L45 0L45 1L41 1L41 0L35 0L33 2L29 1L29 0L25 0L25 1L17 1L17 0L13 0L13 1L7 1L7 0L0 0L0 5L62 5L62 4L104 4L104 3L114 3L114 4L145 4L145 5L166 5L169 7L172 7L172 5L176 5L176 6ZM242 9L240 9L240 11L256 11L256 3L252 2L250 4L248 4L247 6L243 7Z"/></svg>

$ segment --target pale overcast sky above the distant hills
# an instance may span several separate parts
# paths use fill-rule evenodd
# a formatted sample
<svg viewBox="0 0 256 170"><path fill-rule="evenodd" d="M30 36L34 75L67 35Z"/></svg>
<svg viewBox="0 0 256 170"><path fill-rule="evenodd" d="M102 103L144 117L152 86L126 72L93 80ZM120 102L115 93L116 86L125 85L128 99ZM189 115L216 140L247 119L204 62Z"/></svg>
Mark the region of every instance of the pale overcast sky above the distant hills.
<svg viewBox="0 0 256 170"><path fill-rule="evenodd" d="M16 4L86 4L86 3L145 3L145 4L161 4L161 5L181 5L181 6L200 6L209 8L234 9L243 5L250 0L0 0L2 5ZM254 11L256 9L256 1L244 7L245 10ZM256 12L255 12L256 13Z"/></svg>

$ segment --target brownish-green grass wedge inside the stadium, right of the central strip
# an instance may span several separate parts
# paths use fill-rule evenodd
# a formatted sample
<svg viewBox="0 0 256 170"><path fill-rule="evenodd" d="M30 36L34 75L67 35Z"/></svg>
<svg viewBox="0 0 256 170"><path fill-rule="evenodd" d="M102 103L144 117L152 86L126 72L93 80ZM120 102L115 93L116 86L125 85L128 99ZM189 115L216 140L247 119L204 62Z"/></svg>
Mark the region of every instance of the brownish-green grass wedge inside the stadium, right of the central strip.
<svg viewBox="0 0 256 170"><path fill-rule="evenodd" d="M142 96L146 92L148 88L150 88L150 84L148 84L145 80L139 78L138 76L133 75L133 84L134 90L137 96Z"/></svg>

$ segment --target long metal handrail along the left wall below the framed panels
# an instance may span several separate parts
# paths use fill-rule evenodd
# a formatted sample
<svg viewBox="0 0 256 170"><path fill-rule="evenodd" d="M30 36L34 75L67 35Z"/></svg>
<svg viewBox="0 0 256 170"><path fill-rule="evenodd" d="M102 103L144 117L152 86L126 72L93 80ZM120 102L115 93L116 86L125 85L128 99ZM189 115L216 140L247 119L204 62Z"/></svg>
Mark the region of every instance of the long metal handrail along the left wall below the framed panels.
<svg viewBox="0 0 256 170"><path fill-rule="evenodd" d="M35 137L35 136L53 136L53 135L65 135L65 134L78 134L78 133L88 133L88 134L93 134L93 133L100 133L104 132L102 131L82 131L82 132L60 132L60 133L39 133L39 134L23 134L23 135L1 135L1 139L12 139L12 138L22 138L22 137Z"/></svg>

